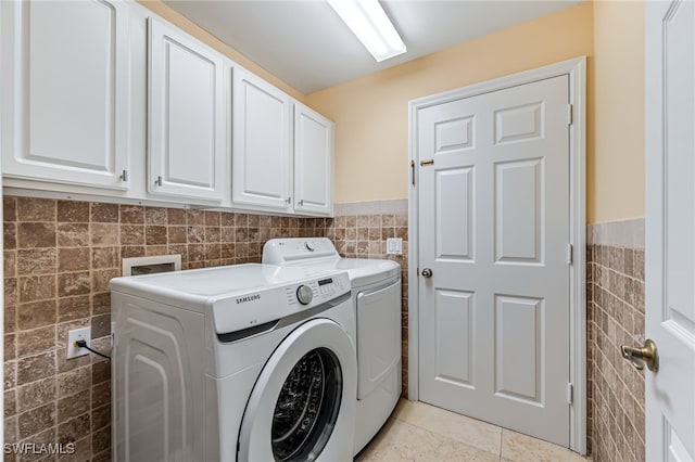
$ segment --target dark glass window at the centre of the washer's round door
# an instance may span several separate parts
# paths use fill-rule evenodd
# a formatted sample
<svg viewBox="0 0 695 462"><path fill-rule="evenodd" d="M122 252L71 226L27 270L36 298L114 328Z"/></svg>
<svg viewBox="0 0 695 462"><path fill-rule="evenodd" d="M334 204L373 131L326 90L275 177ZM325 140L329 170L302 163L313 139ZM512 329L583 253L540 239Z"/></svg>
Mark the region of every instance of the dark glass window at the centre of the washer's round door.
<svg viewBox="0 0 695 462"><path fill-rule="evenodd" d="M336 426L342 398L342 371L328 348L304 355L288 375L273 413L276 461L313 460Z"/></svg>

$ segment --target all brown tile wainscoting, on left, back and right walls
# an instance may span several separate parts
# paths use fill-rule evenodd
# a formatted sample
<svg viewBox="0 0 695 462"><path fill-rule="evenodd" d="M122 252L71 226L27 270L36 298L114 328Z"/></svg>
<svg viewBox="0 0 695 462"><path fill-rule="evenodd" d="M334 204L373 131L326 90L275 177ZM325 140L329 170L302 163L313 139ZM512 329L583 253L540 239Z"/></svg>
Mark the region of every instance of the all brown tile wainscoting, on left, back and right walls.
<svg viewBox="0 0 695 462"><path fill-rule="evenodd" d="M185 269L257 262L271 238L326 235L343 257L401 265L407 395L406 201L339 205L334 219L13 196L3 203L5 442L74 442L66 460L109 460L111 369L93 356L66 360L67 331L91 326L92 345L109 350L108 284L121 275L122 258L180 254ZM589 230L587 427L596 461L644 460L644 375L618 349L644 341L643 221L634 227ZM403 255L386 255L388 238L403 240ZM40 458L5 454L15 459Z"/></svg>

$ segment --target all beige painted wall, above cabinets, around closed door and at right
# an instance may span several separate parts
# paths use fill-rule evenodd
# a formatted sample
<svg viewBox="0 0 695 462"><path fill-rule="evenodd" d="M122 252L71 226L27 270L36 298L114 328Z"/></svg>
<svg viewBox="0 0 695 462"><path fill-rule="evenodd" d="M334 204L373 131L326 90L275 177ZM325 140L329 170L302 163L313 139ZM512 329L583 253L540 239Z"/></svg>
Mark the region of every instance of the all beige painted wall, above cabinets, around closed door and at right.
<svg viewBox="0 0 695 462"><path fill-rule="evenodd" d="M304 95L161 0L141 4L336 121L336 202L407 197L408 101L586 55L586 218L644 216L644 4L596 0Z"/></svg>

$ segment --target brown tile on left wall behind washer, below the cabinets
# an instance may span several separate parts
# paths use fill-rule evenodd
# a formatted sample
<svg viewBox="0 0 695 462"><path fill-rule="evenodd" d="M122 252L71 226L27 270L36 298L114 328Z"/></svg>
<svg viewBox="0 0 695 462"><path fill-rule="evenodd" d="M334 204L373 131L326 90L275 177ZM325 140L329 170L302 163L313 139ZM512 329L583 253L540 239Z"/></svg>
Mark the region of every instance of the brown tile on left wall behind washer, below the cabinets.
<svg viewBox="0 0 695 462"><path fill-rule="evenodd" d="M92 347L109 351L109 280L122 258L180 254L185 269L258 262L268 239L324 235L332 223L13 196L3 205L5 442L74 442L61 460L79 461L111 459L111 369L93 355L67 360L65 338L91 326ZM350 249L366 248L356 242Z"/></svg>

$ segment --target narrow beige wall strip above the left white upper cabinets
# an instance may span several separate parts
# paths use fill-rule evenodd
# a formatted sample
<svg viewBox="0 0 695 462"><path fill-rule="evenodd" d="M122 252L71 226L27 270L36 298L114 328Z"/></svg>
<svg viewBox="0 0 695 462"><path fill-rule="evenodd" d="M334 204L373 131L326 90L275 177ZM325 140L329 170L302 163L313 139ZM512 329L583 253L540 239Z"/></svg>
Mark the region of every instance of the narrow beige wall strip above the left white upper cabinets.
<svg viewBox="0 0 695 462"><path fill-rule="evenodd" d="M153 13L159 14L169 23L174 24L177 27L180 27L181 29L186 30L188 34L192 35L200 41L214 48L215 50L219 51L222 54L235 61L236 63L242 65L247 69L256 74L258 77L269 81L280 90L291 95L292 98L296 99L298 101L304 102L304 98L305 98L304 93L301 93L300 91L295 90L293 87L290 87L285 81L280 80L273 74L268 73L266 69L258 66L256 63L249 60L247 56L244 56L233 48L229 47L227 43L224 43L222 40L219 40L217 37L213 36L212 34L210 34L207 30L203 29L192 21L188 20L177 11L173 10L170 7L164 4L162 0L137 0L137 1L138 3L149 9Z"/></svg>

